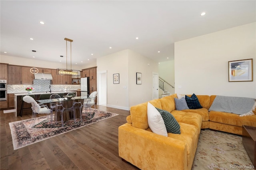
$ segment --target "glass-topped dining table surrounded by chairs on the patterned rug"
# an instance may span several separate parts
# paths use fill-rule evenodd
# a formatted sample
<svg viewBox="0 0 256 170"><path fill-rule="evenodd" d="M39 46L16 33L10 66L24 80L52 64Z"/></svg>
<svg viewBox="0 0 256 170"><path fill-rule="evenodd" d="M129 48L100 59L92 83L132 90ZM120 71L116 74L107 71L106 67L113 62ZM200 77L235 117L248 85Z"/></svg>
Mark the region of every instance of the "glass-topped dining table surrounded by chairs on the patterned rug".
<svg viewBox="0 0 256 170"><path fill-rule="evenodd" d="M94 100L96 97L90 97L91 100ZM84 102L86 102L87 96L72 96L72 97L67 97L67 96L63 96L62 98L52 98L52 99L43 99L43 100L36 100L39 103L43 103L43 104L50 104L50 103L54 103L56 106L58 105L62 105L63 108L72 108L74 102L81 102L81 100L84 100ZM83 103L81 103L83 104ZM73 114L71 113L72 110L70 110L69 114L64 114L63 115L63 121L68 121L70 119L73 119ZM75 114L76 114L76 118L80 118L80 111L79 109L75 110ZM61 117L60 117L60 110L59 112L55 113L55 121L61 121Z"/></svg>

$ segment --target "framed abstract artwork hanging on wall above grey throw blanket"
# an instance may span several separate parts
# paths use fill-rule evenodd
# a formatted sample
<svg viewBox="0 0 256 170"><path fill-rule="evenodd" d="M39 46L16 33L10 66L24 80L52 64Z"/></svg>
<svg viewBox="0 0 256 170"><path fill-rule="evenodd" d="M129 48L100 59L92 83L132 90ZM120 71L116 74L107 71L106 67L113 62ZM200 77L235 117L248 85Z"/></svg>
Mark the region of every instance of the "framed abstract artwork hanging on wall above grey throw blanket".
<svg viewBox="0 0 256 170"><path fill-rule="evenodd" d="M252 58L228 62L229 82L253 81Z"/></svg>

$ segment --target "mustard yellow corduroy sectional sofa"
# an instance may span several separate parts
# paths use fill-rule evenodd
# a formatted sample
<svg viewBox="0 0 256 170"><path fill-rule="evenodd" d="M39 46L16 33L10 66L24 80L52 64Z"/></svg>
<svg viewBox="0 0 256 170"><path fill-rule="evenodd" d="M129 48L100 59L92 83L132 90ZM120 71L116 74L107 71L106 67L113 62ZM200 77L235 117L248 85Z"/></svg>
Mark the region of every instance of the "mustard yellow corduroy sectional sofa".
<svg viewBox="0 0 256 170"><path fill-rule="evenodd" d="M191 96L191 95L187 95ZM256 115L208 111L216 96L196 95L202 108L176 110L176 94L149 101L170 112L180 124L180 134L162 136L148 125L148 102L132 106L126 124L118 128L119 156L142 170L190 170L200 130L210 128L242 134L242 125L256 127Z"/></svg>

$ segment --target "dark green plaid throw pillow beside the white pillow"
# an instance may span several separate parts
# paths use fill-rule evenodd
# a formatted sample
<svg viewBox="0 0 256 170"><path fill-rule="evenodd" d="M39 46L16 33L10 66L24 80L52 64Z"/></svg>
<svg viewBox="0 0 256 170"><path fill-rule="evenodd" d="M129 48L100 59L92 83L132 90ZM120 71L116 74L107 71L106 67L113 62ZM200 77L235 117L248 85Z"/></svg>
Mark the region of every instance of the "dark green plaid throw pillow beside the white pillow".
<svg viewBox="0 0 256 170"><path fill-rule="evenodd" d="M180 124L177 122L174 116L172 116L172 114L170 114L170 112L166 110L162 110L159 108L156 108L156 110L158 110L158 112L164 119L164 125L166 126L167 132L173 134L180 134Z"/></svg>

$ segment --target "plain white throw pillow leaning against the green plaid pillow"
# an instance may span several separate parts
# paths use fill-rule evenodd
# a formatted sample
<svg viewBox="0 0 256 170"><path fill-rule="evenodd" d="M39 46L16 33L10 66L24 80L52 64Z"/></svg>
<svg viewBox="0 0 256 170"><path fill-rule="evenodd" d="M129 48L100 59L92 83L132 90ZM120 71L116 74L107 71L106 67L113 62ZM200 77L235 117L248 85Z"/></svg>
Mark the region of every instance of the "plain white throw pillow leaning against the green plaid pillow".
<svg viewBox="0 0 256 170"><path fill-rule="evenodd" d="M156 108L148 102L148 126L152 132L163 136L168 136L164 119Z"/></svg>

